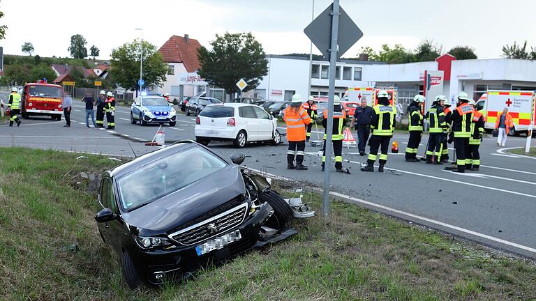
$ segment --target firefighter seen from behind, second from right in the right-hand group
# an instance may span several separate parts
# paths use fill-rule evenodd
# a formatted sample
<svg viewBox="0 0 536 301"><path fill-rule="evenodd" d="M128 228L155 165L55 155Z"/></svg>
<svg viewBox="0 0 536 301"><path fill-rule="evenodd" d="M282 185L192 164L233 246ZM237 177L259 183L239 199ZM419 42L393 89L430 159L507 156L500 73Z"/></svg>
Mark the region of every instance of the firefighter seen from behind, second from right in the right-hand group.
<svg viewBox="0 0 536 301"><path fill-rule="evenodd" d="M469 96L466 92L458 94L458 101L459 106L452 112L452 132L454 132L457 166L457 169L452 171L463 173L466 171L466 159L469 154L469 139L471 137L471 123L474 111L468 105Z"/></svg>

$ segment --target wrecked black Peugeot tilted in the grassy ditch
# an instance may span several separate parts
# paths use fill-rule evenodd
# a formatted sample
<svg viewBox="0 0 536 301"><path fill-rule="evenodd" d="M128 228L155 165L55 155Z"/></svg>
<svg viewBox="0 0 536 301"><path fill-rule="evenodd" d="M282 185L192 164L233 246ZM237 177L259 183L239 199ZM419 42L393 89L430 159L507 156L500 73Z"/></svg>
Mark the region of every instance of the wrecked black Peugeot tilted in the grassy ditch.
<svg viewBox="0 0 536 301"><path fill-rule="evenodd" d="M180 141L104 173L95 219L129 287L162 284L296 233L295 207L268 178L240 167L244 158L228 162Z"/></svg>

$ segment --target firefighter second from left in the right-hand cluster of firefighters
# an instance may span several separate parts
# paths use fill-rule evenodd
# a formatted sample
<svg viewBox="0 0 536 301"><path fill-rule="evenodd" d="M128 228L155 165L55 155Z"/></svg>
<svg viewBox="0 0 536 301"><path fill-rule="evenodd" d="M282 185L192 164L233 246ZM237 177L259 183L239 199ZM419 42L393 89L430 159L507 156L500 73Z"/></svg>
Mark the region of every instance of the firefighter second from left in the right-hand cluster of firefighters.
<svg viewBox="0 0 536 301"><path fill-rule="evenodd" d="M430 124L430 136L428 139L428 148L426 149L426 164L442 164L441 145L443 132L447 132L447 122L445 121L445 113L440 105L440 96L432 102L432 107L426 112L424 118L428 118Z"/></svg>

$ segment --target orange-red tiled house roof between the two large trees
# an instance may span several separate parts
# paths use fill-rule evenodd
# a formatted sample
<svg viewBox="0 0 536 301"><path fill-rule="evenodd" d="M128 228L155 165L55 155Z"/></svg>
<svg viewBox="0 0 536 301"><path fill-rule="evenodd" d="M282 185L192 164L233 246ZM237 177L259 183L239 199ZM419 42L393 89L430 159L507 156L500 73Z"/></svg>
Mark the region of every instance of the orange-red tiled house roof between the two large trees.
<svg viewBox="0 0 536 301"><path fill-rule="evenodd" d="M183 63L188 72L195 72L201 68L198 60L198 49L201 44L188 35L171 36L167 42L158 49L166 63Z"/></svg>

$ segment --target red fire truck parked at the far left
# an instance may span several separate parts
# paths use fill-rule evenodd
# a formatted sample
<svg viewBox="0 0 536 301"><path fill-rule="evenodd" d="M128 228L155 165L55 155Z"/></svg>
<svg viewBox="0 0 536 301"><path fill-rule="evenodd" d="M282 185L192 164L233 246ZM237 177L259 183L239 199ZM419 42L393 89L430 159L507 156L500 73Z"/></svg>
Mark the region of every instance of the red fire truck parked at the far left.
<svg viewBox="0 0 536 301"><path fill-rule="evenodd" d="M50 116L61 121L63 109L61 103L64 98L64 88L57 84L48 84L38 80L28 83L22 89L22 118L29 116Z"/></svg>

